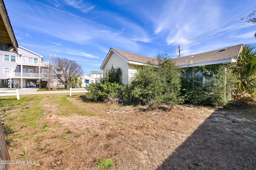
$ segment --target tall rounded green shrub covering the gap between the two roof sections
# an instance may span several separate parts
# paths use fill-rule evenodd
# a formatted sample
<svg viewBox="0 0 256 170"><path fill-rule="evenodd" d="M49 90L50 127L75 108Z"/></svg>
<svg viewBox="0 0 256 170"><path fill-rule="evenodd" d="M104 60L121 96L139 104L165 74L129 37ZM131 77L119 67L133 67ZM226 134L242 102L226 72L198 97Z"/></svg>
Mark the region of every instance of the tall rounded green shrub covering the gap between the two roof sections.
<svg viewBox="0 0 256 170"><path fill-rule="evenodd" d="M152 108L182 103L180 70L166 55L158 55L157 61L137 69L129 85L130 100Z"/></svg>

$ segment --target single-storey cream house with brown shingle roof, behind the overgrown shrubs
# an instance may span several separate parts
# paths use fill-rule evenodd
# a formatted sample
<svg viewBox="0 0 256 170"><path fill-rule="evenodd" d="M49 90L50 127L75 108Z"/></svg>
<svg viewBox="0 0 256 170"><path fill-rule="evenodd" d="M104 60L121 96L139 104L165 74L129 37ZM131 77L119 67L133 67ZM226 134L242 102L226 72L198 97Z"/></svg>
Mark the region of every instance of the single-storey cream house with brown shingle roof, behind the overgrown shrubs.
<svg viewBox="0 0 256 170"><path fill-rule="evenodd" d="M180 68L236 62L240 51L242 51L242 46L242 44L239 44L205 53L173 58L172 61ZM111 67L114 67L114 69L119 67L122 70L122 83L128 84L137 68L145 65L148 61L154 63L156 59L110 48L100 69L105 74Z"/></svg>

